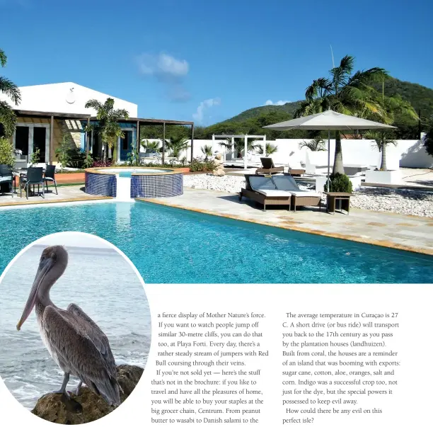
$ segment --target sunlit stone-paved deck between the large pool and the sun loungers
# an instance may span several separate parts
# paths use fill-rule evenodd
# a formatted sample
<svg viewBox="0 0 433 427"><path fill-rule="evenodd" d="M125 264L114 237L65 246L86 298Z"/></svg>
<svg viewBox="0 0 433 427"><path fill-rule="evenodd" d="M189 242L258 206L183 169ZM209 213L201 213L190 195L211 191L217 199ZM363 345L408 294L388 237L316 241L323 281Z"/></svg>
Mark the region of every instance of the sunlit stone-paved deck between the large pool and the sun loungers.
<svg viewBox="0 0 433 427"><path fill-rule="evenodd" d="M266 212L263 212L261 205L250 200L243 198L240 202L237 194L195 188L184 188L183 195L175 198L140 200L235 220L433 255L433 219L427 217L355 208L351 208L350 215L340 212L332 215L325 212L324 207L321 211L313 207L298 208L296 212L267 207Z"/></svg>

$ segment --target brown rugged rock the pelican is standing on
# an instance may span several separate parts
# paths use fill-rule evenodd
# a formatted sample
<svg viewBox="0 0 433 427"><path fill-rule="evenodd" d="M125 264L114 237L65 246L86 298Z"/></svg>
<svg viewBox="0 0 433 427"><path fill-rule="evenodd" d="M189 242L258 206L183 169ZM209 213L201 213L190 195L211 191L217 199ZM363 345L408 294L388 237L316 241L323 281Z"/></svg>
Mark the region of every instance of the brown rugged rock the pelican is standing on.
<svg viewBox="0 0 433 427"><path fill-rule="evenodd" d="M120 392L121 402L125 402L125 399L132 393L142 377L142 373L143 368L138 366L117 366L117 381L123 390L123 393ZM71 393L70 400L62 394L44 394L36 402L32 414L52 423L76 425L100 419L110 414L114 409L102 397L83 386L79 396Z"/></svg>

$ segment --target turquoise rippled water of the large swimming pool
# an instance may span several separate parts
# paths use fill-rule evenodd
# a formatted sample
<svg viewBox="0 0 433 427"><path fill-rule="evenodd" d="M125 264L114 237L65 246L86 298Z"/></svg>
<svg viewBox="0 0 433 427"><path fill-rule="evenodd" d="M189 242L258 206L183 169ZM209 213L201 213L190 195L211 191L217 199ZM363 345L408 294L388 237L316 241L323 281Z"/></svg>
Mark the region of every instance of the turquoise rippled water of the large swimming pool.
<svg viewBox="0 0 433 427"><path fill-rule="evenodd" d="M0 273L35 239L80 231L115 244L147 283L431 283L433 277L431 256L151 203L0 210L0 224Z"/></svg>

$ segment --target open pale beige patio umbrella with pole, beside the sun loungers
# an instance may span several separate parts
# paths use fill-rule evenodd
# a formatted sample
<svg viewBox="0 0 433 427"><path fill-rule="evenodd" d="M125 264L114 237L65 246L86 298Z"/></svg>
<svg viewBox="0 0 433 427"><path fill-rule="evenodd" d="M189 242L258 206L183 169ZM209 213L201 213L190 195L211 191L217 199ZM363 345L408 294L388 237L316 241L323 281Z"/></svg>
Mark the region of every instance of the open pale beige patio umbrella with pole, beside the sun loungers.
<svg viewBox="0 0 433 427"><path fill-rule="evenodd" d="M383 123L366 120L347 115L336 113L333 110L323 111L312 115L306 115L293 120L275 123L275 125L263 126L265 129L272 130L328 130L328 174L326 183L329 191L329 167L330 167L330 131L331 130L362 130L362 129L395 129L395 126L384 125Z"/></svg>

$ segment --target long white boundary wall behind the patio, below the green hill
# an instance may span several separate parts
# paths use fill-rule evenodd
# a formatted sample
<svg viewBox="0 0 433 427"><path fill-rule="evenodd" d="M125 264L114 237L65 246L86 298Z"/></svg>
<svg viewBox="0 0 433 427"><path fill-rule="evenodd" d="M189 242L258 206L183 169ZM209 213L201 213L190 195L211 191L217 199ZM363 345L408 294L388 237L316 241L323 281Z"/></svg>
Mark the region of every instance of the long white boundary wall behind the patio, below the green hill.
<svg viewBox="0 0 433 427"><path fill-rule="evenodd" d="M218 140L219 141L219 140ZM201 147L205 144L212 145L213 152L224 153L224 147L221 147L212 140L194 140L194 157L202 157ZM300 148L299 145L304 140L275 140L267 141L277 145L278 151L272 154L271 157L275 163L289 164L291 167L296 167L296 164L306 164L306 152L311 153L305 147ZM307 140L306 140L307 141ZM423 142L420 140L397 140L397 146L392 144L386 147L386 163L388 169L405 168L432 168L433 156L429 156L425 151ZM376 149L375 143L372 140L342 140L342 156L343 163L348 165L362 165L379 167L381 164L381 153ZM189 142L191 144L191 142ZM328 147L328 140L325 141L325 147ZM191 158L191 150L187 149L180 157L186 156L188 161ZM335 140L330 140L330 164L333 164L335 152ZM318 164L316 166L326 166L328 164L328 152L314 152L314 160Z"/></svg>

